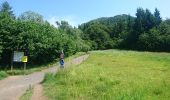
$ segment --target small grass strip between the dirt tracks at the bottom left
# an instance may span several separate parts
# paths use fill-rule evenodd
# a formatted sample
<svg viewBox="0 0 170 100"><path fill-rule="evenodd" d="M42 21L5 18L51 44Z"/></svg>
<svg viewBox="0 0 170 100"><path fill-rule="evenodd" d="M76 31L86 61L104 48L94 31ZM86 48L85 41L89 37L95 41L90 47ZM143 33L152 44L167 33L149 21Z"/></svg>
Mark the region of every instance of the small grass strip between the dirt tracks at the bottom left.
<svg viewBox="0 0 170 100"><path fill-rule="evenodd" d="M33 87L30 87L26 92L20 97L20 100L31 100L33 94Z"/></svg>

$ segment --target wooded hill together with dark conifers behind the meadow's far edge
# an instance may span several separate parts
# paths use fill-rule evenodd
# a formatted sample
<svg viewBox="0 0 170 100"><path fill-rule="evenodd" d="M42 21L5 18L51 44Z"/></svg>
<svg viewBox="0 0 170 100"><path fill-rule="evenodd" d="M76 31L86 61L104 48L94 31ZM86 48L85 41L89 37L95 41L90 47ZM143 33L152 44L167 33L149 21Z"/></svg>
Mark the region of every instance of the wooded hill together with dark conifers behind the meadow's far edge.
<svg viewBox="0 0 170 100"><path fill-rule="evenodd" d="M138 8L136 17L123 14L99 18L79 29L93 49L170 51L170 20L162 20L157 8L154 13Z"/></svg>

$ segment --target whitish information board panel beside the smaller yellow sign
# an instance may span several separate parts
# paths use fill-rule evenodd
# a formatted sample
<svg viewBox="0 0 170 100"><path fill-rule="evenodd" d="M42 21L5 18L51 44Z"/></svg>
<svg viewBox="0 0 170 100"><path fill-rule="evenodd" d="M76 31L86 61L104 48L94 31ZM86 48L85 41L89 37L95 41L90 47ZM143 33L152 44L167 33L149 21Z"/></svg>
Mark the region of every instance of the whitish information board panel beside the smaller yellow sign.
<svg viewBox="0 0 170 100"><path fill-rule="evenodd" d="M22 59L24 57L24 52L14 51L14 62L22 62Z"/></svg>

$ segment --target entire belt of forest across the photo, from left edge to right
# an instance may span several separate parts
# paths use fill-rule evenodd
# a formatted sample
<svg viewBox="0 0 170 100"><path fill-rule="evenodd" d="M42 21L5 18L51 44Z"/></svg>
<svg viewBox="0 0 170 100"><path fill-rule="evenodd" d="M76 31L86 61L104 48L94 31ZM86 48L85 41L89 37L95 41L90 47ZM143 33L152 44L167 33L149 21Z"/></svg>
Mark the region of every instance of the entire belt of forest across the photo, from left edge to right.
<svg viewBox="0 0 170 100"><path fill-rule="evenodd" d="M127 14L102 17L77 27L56 21L54 27L41 14L26 11L16 16L8 2L0 6L0 69L10 66L14 51L24 51L28 64L39 65L89 50L126 49L170 51L170 19L163 20L156 8L137 8Z"/></svg>

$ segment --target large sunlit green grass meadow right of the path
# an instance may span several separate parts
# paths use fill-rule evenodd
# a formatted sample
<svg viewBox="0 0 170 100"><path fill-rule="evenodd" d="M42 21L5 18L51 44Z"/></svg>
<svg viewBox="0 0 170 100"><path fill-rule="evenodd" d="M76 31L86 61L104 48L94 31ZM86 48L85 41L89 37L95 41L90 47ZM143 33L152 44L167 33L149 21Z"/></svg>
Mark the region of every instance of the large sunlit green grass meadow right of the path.
<svg viewBox="0 0 170 100"><path fill-rule="evenodd" d="M43 85L49 100L169 100L170 54L95 51Z"/></svg>

